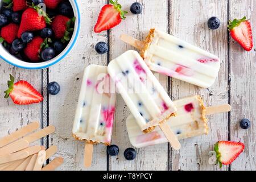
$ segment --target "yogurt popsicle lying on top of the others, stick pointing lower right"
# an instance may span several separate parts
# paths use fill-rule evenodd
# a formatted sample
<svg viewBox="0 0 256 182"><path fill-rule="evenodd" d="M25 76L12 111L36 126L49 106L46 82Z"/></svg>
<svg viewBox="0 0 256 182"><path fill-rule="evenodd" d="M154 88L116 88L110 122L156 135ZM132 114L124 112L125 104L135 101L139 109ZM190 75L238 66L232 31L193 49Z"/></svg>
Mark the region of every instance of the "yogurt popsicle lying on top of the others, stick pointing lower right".
<svg viewBox="0 0 256 182"><path fill-rule="evenodd" d="M160 125L172 146L179 149L179 142L166 126L166 120L175 115L176 107L139 53L123 53L109 63L108 72L139 129L148 133Z"/></svg>

